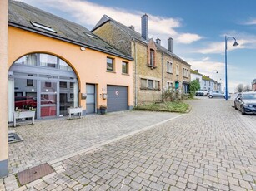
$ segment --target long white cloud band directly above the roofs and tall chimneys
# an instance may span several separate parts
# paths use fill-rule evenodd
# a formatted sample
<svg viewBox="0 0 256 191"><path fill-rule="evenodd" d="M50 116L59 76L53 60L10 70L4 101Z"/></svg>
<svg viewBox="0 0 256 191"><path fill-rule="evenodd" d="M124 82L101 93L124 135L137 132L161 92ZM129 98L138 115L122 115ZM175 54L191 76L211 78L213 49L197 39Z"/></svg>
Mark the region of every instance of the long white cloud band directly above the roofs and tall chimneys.
<svg viewBox="0 0 256 191"><path fill-rule="evenodd" d="M90 28L96 25L99 19L103 17L103 14L106 14L126 26L133 25L135 30L140 32L141 16L144 14L144 12L105 7L93 2L80 0L23 0L23 2L33 4L38 8L54 8L68 14L68 17L73 19L73 22L81 23ZM167 41L168 37L173 37L179 43L190 44L202 38L198 34L177 32L175 29L182 26L180 18L159 17L151 14L148 14L148 17L149 37L154 39L159 37Z"/></svg>

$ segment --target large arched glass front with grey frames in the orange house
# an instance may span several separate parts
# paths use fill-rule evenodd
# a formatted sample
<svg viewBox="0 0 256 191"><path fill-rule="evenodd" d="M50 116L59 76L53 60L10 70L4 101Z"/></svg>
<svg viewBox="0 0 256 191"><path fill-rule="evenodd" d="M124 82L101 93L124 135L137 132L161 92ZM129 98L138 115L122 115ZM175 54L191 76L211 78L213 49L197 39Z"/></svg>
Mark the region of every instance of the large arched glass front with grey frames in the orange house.
<svg viewBox="0 0 256 191"><path fill-rule="evenodd" d="M51 68L54 73L48 72ZM15 109L33 107L36 118L40 119L67 115L69 107L78 107L76 75L68 63L56 56L40 53L23 56L13 63L8 74L9 121L13 121Z"/></svg>

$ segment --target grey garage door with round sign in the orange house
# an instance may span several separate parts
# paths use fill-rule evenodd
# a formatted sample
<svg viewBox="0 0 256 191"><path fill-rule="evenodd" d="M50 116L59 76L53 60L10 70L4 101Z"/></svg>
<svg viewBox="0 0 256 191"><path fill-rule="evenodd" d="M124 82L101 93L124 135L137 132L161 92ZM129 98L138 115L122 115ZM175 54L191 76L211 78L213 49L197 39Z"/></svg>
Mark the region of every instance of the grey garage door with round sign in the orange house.
<svg viewBox="0 0 256 191"><path fill-rule="evenodd" d="M128 110L127 86L107 86L108 112Z"/></svg>

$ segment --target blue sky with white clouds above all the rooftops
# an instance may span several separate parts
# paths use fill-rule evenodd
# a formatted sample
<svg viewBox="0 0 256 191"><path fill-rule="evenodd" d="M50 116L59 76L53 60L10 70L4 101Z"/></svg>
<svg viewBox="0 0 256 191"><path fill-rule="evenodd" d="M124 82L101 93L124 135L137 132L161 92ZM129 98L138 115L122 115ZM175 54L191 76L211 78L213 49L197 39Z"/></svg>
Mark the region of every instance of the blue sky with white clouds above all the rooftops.
<svg viewBox="0 0 256 191"><path fill-rule="evenodd" d="M228 38L228 91L256 78L255 0L20 0L91 30L104 14L141 32L147 13L149 37L167 48L193 70L225 86L225 36ZM233 47L233 38L238 47ZM218 73L217 73L218 71ZM214 73L214 74L213 74Z"/></svg>

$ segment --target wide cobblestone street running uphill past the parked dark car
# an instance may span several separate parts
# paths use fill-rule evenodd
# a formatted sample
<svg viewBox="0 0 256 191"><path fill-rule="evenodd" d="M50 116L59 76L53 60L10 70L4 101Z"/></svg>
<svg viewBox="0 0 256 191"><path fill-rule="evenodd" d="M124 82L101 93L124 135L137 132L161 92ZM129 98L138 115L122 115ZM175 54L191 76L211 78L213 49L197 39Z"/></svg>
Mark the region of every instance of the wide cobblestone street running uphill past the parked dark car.
<svg viewBox="0 0 256 191"><path fill-rule="evenodd" d="M19 190L255 190L256 115L232 101L190 103L188 115L64 159ZM4 181L10 190L15 177Z"/></svg>

